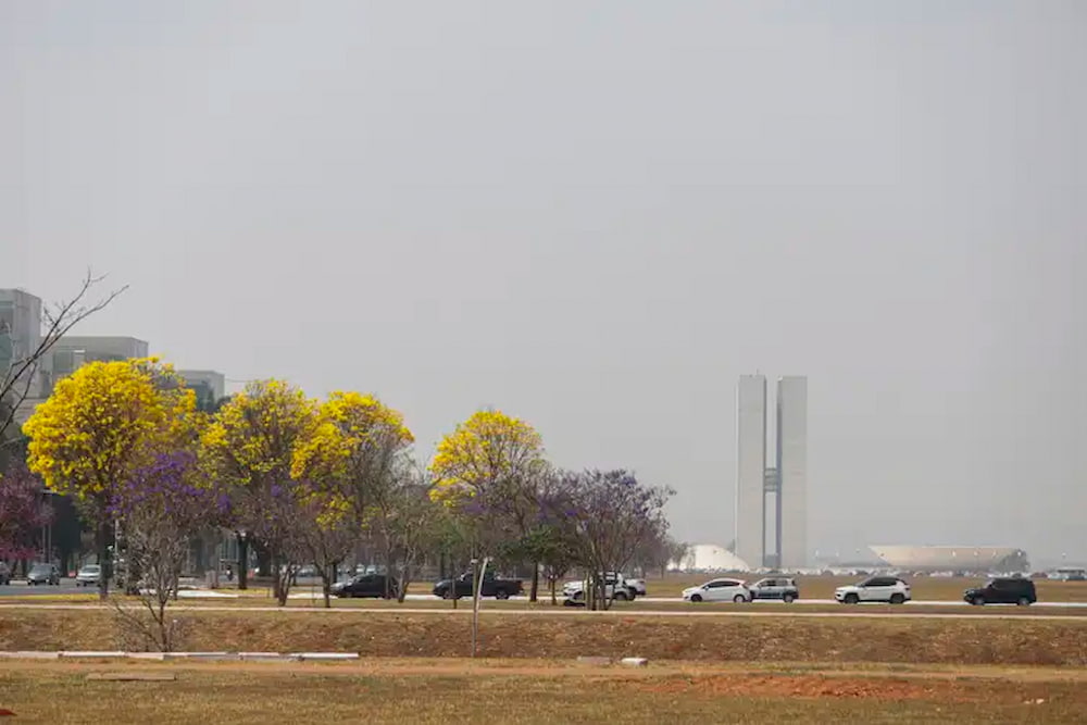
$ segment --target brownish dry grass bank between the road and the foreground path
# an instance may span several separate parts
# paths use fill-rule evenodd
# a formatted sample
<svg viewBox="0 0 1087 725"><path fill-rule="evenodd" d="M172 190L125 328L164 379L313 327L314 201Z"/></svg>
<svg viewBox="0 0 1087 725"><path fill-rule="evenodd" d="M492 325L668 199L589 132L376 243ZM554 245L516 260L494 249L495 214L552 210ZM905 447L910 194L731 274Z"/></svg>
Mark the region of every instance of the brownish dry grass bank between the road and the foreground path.
<svg viewBox="0 0 1087 725"><path fill-rule="evenodd" d="M364 657L464 657L470 617L332 611L177 612L189 650L361 652ZM116 649L107 610L9 609L0 650ZM480 651L498 658L639 655L708 662L900 662L1087 665L1083 618L965 620L517 616L480 620Z"/></svg>

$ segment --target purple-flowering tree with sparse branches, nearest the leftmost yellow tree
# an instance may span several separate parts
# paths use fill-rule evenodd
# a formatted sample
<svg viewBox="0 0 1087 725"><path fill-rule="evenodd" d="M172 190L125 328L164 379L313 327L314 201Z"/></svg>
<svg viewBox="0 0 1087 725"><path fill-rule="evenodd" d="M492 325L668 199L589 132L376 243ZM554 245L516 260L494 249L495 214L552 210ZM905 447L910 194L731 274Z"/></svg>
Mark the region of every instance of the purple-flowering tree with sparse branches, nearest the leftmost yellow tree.
<svg viewBox="0 0 1087 725"><path fill-rule="evenodd" d="M191 541L224 520L228 501L199 475L190 451L160 455L117 486L108 512L125 542L126 578L143 608L117 604L117 615L136 640L163 652L176 636L166 609L176 598Z"/></svg>

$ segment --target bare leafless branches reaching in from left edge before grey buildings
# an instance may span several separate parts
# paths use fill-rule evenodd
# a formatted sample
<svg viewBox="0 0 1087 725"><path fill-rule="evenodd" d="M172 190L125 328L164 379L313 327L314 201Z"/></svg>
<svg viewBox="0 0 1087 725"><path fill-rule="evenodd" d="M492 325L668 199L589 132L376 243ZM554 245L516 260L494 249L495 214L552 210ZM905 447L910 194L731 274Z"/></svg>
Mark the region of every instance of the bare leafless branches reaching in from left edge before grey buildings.
<svg viewBox="0 0 1087 725"><path fill-rule="evenodd" d="M41 311L42 330L38 343L29 350L13 350L8 370L0 371L0 445L7 441L8 428L15 421L18 409L29 397L38 366L53 346L73 327L96 312L104 310L128 289L126 285L98 296L97 289L104 279L104 276L95 276L88 271L78 291L72 298L45 305Z"/></svg>

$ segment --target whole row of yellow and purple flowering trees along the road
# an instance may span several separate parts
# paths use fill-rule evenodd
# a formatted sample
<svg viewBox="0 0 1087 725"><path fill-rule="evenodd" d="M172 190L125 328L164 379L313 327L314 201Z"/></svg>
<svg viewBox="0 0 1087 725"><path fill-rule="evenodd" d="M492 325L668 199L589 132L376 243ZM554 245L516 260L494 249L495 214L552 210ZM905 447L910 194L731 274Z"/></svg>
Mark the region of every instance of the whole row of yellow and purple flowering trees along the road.
<svg viewBox="0 0 1087 725"><path fill-rule="evenodd" d="M233 532L241 562L257 548L280 604L307 563L328 605L337 567L362 539L399 574L401 599L436 553L530 566L552 599L574 567L617 571L670 553L670 490L626 471L557 470L539 434L499 411L458 425L424 466L402 415L373 396L335 392L322 402L263 380L208 412L170 365L145 359L80 367L23 432L28 472L72 497L93 526L103 582L120 530L160 623L188 542L212 530ZM238 574L247 586L243 563ZM538 585L534 575L533 599Z"/></svg>

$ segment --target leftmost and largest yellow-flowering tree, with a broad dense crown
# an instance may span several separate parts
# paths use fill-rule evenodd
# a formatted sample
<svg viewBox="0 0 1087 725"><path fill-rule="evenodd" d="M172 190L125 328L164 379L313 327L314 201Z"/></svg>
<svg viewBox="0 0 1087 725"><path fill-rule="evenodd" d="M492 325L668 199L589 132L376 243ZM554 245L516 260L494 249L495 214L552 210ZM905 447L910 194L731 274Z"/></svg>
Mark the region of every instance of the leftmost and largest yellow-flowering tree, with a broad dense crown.
<svg viewBox="0 0 1087 725"><path fill-rule="evenodd" d="M110 578L110 502L137 468L189 445L200 422L195 408L192 391L155 358L93 362L59 382L23 426L30 471L76 499L95 524L102 598Z"/></svg>

